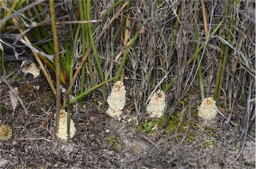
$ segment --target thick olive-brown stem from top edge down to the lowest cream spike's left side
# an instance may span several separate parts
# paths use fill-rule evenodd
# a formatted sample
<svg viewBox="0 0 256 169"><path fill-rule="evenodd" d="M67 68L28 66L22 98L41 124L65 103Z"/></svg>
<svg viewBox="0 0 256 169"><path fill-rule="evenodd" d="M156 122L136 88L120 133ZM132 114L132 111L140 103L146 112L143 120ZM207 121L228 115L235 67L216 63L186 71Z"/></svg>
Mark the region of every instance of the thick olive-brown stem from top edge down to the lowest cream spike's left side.
<svg viewBox="0 0 256 169"><path fill-rule="evenodd" d="M57 29L55 23L55 9L54 9L54 1L49 1L50 11L51 11L51 26L53 29L53 44L54 44L54 52L55 52L55 62L56 62L56 132L59 130L59 108L61 105L61 81L60 81L60 67L59 67L59 45L57 39Z"/></svg>

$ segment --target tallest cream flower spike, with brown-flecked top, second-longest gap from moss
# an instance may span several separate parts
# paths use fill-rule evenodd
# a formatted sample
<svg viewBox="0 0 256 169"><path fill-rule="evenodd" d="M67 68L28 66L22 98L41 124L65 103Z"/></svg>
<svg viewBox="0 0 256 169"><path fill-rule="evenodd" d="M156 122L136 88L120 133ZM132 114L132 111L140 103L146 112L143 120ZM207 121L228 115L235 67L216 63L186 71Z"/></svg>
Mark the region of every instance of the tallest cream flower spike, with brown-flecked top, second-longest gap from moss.
<svg viewBox="0 0 256 169"><path fill-rule="evenodd" d="M117 81L117 83L115 83L113 86L109 97L107 98L107 103L109 104L107 114L109 114L109 116L120 120L119 117L122 114L122 110L126 104L125 94L125 86L123 83L121 83L121 81Z"/></svg>

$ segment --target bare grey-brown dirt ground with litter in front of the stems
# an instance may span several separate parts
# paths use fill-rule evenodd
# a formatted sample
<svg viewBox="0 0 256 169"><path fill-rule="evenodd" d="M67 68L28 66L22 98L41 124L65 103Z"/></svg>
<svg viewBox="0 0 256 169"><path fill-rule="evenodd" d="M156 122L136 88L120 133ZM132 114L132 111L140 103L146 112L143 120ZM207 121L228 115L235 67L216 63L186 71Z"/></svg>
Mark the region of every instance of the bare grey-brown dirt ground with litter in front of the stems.
<svg viewBox="0 0 256 169"><path fill-rule="evenodd" d="M131 118L117 122L97 110L93 104L97 98L85 97L83 108L73 107L74 138L57 140L55 118L39 126L55 112L47 81L42 76L19 77L19 82L10 85L19 88L29 114L21 104L13 112L9 87L2 83L0 124L11 126L13 136L0 142L0 168L255 168L255 142L249 138L239 159L231 163L240 150L241 131L231 125L225 132L220 115L207 124L209 130L202 120L195 122L198 130L189 131L197 134L195 140L187 142L183 136L184 140L175 141L177 136L161 134L161 129L140 132L134 110L125 114ZM193 100L193 105L199 104ZM236 106L234 122L243 121L239 114L244 111L243 104ZM249 134L255 138L255 122Z"/></svg>

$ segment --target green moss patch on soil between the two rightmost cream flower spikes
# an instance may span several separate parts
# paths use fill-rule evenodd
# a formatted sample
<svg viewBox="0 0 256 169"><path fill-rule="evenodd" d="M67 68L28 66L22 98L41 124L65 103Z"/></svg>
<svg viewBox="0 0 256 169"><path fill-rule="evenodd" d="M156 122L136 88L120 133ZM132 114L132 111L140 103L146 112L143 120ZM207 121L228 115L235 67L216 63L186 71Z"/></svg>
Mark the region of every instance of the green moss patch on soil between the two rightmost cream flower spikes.
<svg viewBox="0 0 256 169"><path fill-rule="evenodd" d="M189 98L184 98L181 100L178 104L178 106L185 106L186 108L189 107ZM191 108L191 114L190 114L190 120L189 120L189 114L184 112L181 117L181 112L175 111L170 116L163 134L175 134L175 140L177 139L180 141L183 139L184 134L186 134L185 142L193 142L197 140L200 130L199 126L195 124L195 120L199 120L199 117L197 115L197 107ZM165 124L165 121L167 120L167 115L164 115L161 118L152 118L152 119L145 119L142 120L139 125L137 126L137 129L139 132L145 132L146 134L151 134L155 132L155 130L160 129ZM212 128L210 126L206 126L205 130L211 134L211 136L215 137L216 133L213 132ZM174 138L173 138L174 139ZM207 140L203 140L203 146L212 146L214 144L213 140L211 138Z"/></svg>

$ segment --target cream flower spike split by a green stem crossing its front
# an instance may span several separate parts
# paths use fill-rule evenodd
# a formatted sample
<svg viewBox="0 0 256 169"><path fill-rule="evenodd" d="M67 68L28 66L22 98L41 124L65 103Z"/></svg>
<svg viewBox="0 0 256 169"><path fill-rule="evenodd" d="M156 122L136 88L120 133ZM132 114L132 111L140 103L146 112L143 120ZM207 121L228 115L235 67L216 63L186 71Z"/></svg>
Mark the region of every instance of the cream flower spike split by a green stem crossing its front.
<svg viewBox="0 0 256 169"><path fill-rule="evenodd" d="M69 137L73 138L75 136L75 123L70 119ZM65 109L61 109L59 112L59 130L57 134L58 138L62 140L67 140L67 112Z"/></svg>

